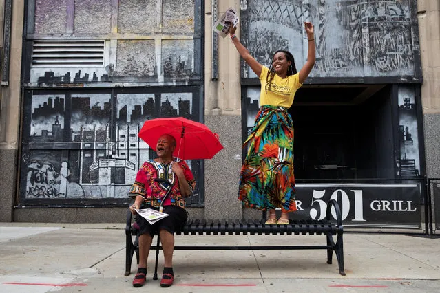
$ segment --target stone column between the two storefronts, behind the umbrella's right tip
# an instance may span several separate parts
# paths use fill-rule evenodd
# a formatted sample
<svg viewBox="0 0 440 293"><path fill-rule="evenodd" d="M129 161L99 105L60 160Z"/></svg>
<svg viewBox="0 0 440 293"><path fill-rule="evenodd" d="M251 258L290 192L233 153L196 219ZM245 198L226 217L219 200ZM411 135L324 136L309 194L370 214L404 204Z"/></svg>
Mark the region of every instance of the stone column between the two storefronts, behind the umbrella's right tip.
<svg viewBox="0 0 440 293"><path fill-rule="evenodd" d="M212 14L211 1L205 1L205 124L220 135L224 149L212 160L205 160L205 219L241 219L238 201L238 180L241 168L241 87L240 55L229 36L222 38L212 30L217 20L232 6L240 13L240 1L218 3L217 15ZM214 3L215 4L215 3ZM215 12L215 11L214 11ZM240 37L240 28L237 33ZM218 79L212 79L212 38L218 38Z"/></svg>

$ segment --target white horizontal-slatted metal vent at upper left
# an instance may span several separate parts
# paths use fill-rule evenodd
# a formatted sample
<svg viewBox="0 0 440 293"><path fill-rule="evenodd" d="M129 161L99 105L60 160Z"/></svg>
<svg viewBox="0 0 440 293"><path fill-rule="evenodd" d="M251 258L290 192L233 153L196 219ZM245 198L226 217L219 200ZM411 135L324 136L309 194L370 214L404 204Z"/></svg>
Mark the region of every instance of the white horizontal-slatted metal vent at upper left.
<svg viewBox="0 0 440 293"><path fill-rule="evenodd" d="M105 41L34 41L32 67L104 66Z"/></svg>

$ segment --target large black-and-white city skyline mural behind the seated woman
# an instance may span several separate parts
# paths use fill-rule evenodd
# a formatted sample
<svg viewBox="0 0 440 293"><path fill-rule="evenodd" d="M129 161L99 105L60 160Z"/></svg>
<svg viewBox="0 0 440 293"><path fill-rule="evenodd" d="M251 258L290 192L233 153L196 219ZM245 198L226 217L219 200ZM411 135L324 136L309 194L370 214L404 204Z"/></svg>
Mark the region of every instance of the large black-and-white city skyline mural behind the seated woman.
<svg viewBox="0 0 440 293"><path fill-rule="evenodd" d="M155 156L138 138L143 123L158 117L198 120L195 92L121 92L114 98L110 92L29 93L21 196L127 199L138 169ZM199 184L200 162L187 162ZM197 186L189 203L199 197Z"/></svg>

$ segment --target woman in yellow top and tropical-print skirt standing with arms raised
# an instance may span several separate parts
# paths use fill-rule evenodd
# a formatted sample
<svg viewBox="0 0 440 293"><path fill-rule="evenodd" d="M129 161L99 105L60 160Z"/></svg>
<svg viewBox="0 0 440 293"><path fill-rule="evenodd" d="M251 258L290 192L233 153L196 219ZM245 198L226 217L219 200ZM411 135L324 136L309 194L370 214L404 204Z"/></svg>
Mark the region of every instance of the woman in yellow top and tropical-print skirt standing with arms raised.
<svg viewBox="0 0 440 293"><path fill-rule="evenodd" d="M261 82L260 111L255 117L249 151L240 174L238 199L243 206L269 210L266 224L289 224L289 212L297 210L295 176L293 175L293 122L287 112L295 92L302 86L315 65L315 36L313 24L304 23L308 36L307 61L297 72L290 52L279 50L273 55L269 68L261 65L235 36L231 27L231 41L244 61ZM280 219L275 208L281 208Z"/></svg>

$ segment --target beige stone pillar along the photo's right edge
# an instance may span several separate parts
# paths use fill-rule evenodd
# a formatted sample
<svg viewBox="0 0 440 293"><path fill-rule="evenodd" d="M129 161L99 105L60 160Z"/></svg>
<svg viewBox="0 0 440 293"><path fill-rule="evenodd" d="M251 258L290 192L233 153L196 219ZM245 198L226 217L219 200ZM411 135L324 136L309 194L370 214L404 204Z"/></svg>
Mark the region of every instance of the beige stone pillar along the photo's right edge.
<svg viewBox="0 0 440 293"><path fill-rule="evenodd" d="M440 177L440 1L418 0L426 171Z"/></svg>

